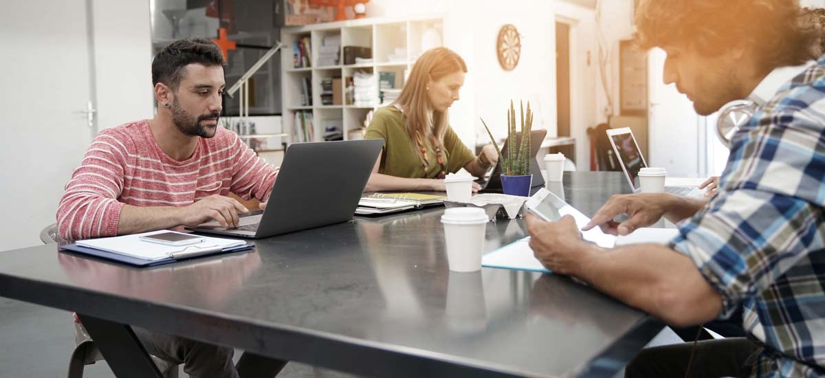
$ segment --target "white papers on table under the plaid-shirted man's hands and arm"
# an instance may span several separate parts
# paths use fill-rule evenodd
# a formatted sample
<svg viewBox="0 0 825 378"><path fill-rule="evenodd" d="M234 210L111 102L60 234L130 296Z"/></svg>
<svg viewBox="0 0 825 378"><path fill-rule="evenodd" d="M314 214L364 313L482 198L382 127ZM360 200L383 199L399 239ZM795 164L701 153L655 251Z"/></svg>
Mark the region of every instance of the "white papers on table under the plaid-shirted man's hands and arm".
<svg viewBox="0 0 825 378"><path fill-rule="evenodd" d="M641 228L636 229L627 236L617 237L615 239L615 245L618 247L635 243L667 244L675 238L677 234L679 234L678 229ZM483 267L497 267L519 271L550 272L550 270L544 267L533 255L533 250L530 249L529 236L485 254L481 258L481 265Z"/></svg>

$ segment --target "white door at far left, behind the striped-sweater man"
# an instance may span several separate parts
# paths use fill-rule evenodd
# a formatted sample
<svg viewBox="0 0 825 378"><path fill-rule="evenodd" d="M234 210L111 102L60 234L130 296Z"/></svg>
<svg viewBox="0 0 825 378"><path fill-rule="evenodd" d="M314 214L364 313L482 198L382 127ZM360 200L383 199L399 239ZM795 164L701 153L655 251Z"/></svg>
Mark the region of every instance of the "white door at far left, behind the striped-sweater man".
<svg viewBox="0 0 825 378"><path fill-rule="evenodd" d="M40 243L95 130L87 2L26 0L0 12L0 251Z"/></svg>

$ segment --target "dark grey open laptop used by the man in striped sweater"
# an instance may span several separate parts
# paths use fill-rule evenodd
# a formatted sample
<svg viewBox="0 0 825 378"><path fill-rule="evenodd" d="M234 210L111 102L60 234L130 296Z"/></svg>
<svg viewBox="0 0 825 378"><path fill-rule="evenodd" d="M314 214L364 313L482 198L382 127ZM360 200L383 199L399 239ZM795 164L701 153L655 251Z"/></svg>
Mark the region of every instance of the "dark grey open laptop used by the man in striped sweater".
<svg viewBox="0 0 825 378"><path fill-rule="evenodd" d="M351 220L383 147L384 139L290 144L266 210L237 229L214 221L186 229L259 239Z"/></svg>

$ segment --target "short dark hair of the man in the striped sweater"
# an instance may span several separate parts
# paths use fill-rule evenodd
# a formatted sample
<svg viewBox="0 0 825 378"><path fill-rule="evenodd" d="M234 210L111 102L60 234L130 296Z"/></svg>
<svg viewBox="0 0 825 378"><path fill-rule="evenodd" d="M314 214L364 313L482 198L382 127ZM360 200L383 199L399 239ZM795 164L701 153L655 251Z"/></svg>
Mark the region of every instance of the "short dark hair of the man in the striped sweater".
<svg viewBox="0 0 825 378"><path fill-rule="evenodd" d="M176 40L155 55L152 61L152 84L164 83L172 89L177 89L177 85L181 83L183 68L193 63L207 67L226 65L224 53L211 40Z"/></svg>

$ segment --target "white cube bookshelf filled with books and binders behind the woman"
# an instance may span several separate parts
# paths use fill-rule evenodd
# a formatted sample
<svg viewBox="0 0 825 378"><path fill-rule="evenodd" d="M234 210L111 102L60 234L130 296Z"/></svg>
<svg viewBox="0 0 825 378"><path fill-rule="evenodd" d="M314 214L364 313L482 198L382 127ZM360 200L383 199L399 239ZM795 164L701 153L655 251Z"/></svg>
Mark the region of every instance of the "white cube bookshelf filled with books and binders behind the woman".
<svg viewBox="0 0 825 378"><path fill-rule="evenodd" d="M367 114L387 105L380 101L381 82L396 89L384 94L397 95L417 57L443 41L443 17L365 18L282 29L281 98L288 139L292 143L336 136L360 139L358 131L365 127ZM370 54L350 46L369 48ZM307 59L296 59L296 54ZM345 61L345 54L347 58L365 55L369 60ZM356 87L354 91L347 90L348 83Z"/></svg>

